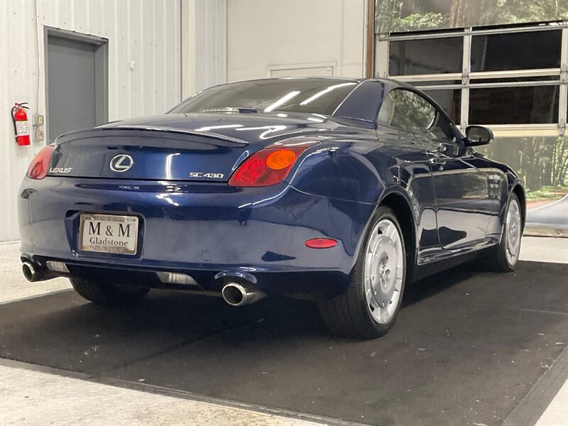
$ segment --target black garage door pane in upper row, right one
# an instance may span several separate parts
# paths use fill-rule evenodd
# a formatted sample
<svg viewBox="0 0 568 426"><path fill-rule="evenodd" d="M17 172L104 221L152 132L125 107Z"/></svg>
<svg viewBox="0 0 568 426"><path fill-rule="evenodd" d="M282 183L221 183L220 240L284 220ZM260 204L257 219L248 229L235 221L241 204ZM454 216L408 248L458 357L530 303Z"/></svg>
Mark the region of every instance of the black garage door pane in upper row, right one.
<svg viewBox="0 0 568 426"><path fill-rule="evenodd" d="M560 30L474 35L471 71L560 67L561 36Z"/></svg>

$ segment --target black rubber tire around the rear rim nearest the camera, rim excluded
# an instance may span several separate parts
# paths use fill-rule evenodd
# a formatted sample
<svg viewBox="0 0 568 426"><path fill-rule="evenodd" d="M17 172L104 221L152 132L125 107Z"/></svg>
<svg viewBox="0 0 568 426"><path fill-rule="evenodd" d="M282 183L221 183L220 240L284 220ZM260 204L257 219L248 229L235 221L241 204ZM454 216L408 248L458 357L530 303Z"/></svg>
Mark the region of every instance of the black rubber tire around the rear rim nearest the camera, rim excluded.
<svg viewBox="0 0 568 426"><path fill-rule="evenodd" d="M400 295L395 305L393 316L385 322L380 324L371 315L371 307L366 299L365 283L364 283L364 267L365 267L365 253L367 246L374 234L374 230L379 222L383 219L391 221L400 236L400 243L402 244L402 283L400 285ZM359 255L351 273L351 279L346 291L341 295L329 300L320 300L318 307L320 308L320 315L324 320L329 330L340 337L349 337L355 339L376 339L377 337L386 334L396 320L400 305L403 300L404 284L406 279L406 251L404 245L403 233L400 230L400 224L394 212L385 206L378 207L371 224L368 228L368 233L365 236ZM372 296L371 296L372 297Z"/></svg>

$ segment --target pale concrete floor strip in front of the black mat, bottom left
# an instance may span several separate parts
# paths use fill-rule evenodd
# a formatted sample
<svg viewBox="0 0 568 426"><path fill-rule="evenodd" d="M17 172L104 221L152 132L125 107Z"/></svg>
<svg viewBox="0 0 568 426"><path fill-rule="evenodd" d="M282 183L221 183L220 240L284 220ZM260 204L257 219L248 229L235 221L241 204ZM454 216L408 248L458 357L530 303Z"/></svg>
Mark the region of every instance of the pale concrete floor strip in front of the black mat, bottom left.
<svg viewBox="0 0 568 426"><path fill-rule="evenodd" d="M0 366L0 425L307 426L249 410Z"/></svg>

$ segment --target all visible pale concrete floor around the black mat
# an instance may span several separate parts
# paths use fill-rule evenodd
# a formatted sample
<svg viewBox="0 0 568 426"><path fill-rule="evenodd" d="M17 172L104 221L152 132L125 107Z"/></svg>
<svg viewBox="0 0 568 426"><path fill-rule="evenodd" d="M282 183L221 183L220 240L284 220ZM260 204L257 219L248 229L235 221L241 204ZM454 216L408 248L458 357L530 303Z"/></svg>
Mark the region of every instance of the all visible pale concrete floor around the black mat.
<svg viewBox="0 0 568 426"><path fill-rule="evenodd" d="M568 239L523 239L521 259L568 263ZM58 279L23 279L18 244L0 244L0 303L70 288ZM550 402L538 426L568 424L568 385ZM304 420L155 395L0 364L0 425L310 425Z"/></svg>

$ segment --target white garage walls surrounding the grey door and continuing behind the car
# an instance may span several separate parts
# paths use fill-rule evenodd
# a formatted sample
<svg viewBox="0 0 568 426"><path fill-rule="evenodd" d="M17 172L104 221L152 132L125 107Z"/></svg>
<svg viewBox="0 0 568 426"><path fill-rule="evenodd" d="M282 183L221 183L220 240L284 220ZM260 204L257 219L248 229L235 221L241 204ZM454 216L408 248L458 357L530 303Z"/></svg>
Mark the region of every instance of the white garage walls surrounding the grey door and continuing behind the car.
<svg viewBox="0 0 568 426"><path fill-rule="evenodd" d="M14 102L30 103L30 124L45 114L43 26L109 40L109 120L116 120L173 106L182 77L187 97L224 80L361 76L364 6L365 0L0 0L0 241L19 239L18 187L45 145L16 146L9 117Z"/></svg>

